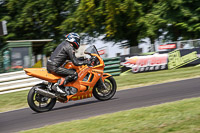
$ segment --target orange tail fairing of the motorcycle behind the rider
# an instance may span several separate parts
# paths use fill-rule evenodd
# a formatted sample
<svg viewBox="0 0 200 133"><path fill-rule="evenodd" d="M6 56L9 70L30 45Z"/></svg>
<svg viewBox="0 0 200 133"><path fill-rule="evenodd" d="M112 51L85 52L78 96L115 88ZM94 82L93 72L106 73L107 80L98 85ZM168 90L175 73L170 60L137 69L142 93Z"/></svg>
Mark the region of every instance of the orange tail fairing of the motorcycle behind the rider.
<svg viewBox="0 0 200 133"><path fill-rule="evenodd" d="M49 82L57 82L61 77L48 73L46 68L25 68L27 75L43 79Z"/></svg>

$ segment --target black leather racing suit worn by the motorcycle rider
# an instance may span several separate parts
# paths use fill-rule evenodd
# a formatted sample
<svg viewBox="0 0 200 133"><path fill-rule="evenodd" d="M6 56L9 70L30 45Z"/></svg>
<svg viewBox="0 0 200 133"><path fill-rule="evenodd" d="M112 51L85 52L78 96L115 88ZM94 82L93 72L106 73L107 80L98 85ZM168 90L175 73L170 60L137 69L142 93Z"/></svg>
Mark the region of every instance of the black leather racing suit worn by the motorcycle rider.
<svg viewBox="0 0 200 133"><path fill-rule="evenodd" d="M57 46L47 62L47 70L50 73L66 77L69 76L70 80L75 80L78 76L75 70L66 69L62 67L66 60L72 61L76 66L87 64L87 60L79 61L75 56L74 47L67 41L63 41ZM74 78L74 79L73 79Z"/></svg>

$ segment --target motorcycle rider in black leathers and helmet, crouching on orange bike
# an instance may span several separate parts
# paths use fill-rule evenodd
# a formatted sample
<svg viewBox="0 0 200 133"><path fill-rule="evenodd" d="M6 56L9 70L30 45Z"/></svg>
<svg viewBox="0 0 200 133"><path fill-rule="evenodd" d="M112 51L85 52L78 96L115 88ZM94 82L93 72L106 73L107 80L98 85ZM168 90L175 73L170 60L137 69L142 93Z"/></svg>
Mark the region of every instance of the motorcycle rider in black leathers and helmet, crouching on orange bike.
<svg viewBox="0 0 200 133"><path fill-rule="evenodd" d="M69 33L66 35L66 40L57 46L47 61L48 72L62 76L62 78L52 87L53 90L61 94L65 94L61 89L63 85L78 78L76 70L63 67L65 61L70 60L76 66L90 64L89 60L80 61L76 58L75 49L78 49L79 47L80 36L77 33Z"/></svg>

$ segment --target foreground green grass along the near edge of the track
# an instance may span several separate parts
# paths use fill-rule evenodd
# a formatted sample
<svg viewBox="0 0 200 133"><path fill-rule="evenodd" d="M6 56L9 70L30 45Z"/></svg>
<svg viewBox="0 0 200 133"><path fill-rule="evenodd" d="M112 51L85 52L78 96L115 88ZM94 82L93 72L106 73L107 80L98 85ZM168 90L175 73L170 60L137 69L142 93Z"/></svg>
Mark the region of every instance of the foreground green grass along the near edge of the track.
<svg viewBox="0 0 200 133"><path fill-rule="evenodd" d="M74 120L23 133L199 133L200 98Z"/></svg>

